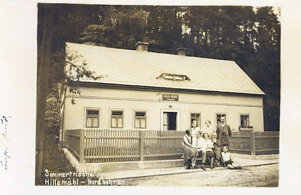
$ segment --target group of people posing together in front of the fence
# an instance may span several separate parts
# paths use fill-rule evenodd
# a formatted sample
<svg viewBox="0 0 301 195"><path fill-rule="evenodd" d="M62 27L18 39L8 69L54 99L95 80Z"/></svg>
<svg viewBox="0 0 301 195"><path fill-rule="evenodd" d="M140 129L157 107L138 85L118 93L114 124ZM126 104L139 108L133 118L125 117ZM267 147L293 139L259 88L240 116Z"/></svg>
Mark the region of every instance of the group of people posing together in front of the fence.
<svg viewBox="0 0 301 195"><path fill-rule="evenodd" d="M206 127L201 130L197 126L197 121L192 121L192 128L186 130L183 137L182 146L184 148L184 162L187 169L197 168L196 161L202 157L201 168L206 170L206 159L210 162L210 168L216 166L227 166L230 169L241 168L234 163L228 147L232 134L231 128L225 123L225 117L221 117L221 123L216 126L216 130L210 126L211 121L205 121Z"/></svg>

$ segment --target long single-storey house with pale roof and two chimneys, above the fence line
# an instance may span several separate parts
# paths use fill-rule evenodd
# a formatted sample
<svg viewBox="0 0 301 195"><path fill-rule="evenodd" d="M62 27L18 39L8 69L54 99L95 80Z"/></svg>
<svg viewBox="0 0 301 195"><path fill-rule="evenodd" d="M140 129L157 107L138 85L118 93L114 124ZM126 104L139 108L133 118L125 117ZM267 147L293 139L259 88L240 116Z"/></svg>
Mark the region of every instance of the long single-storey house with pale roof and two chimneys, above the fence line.
<svg viewBox="0 0 301 195"><path fill-rule="evenodd" d="M106 76L83 78L80 95L62 85L63 134L77 128L185 130L192 120L202 129L206 120L216 127L221 116L236 131L264 129L264 92L234 61L185 56L184 48L148 52L143 42L136 50L66 45L66 53L79 53L90 70Z"/></svg>

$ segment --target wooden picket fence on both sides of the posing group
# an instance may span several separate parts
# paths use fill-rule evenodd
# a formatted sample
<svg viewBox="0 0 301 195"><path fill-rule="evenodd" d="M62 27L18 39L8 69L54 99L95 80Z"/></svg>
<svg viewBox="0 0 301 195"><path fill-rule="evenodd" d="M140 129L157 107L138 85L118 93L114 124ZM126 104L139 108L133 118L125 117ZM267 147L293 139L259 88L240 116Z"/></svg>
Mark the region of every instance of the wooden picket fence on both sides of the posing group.
<svg viewBox="0 0 301 195"><path fill-rule="evenodd" d="M70 129L66 147L80 163L179 159L185 131L140 129ZM233 132L230 152L279 153L279 132Z"/></svg>

